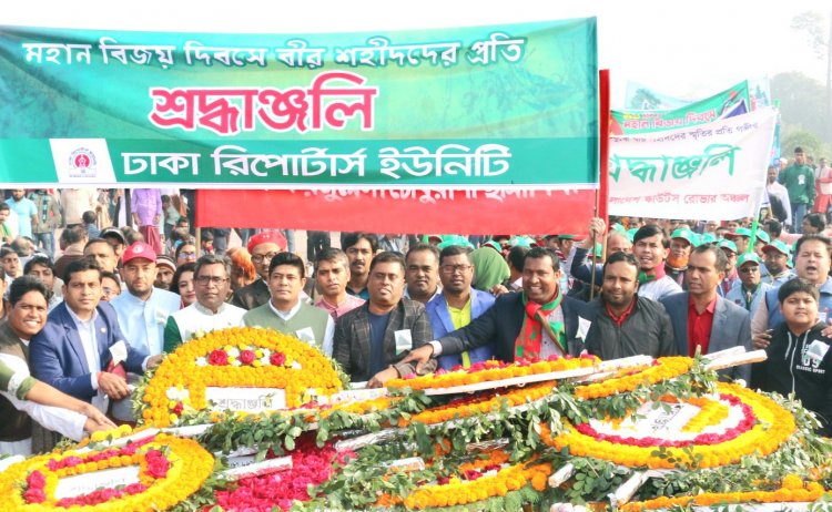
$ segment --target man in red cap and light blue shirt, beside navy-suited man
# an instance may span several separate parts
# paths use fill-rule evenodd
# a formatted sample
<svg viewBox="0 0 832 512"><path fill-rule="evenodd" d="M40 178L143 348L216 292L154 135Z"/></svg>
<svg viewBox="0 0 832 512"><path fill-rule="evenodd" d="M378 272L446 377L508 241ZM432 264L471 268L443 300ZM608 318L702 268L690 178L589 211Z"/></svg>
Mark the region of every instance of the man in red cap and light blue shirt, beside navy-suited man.
<svg viewBox="0 0 832 512"><path fill-rule="evenodd" d="M121 280L126 288L110 305L119 316L119 325L128 342L149 356L162 354L164 326L168 317L179 310L180 296L155 288L156 253L149 244L136 242L121 255ZM139 377L128 376L134 383ZM133 421L130 398L113 402L112 414L122 421Z"/></svg>

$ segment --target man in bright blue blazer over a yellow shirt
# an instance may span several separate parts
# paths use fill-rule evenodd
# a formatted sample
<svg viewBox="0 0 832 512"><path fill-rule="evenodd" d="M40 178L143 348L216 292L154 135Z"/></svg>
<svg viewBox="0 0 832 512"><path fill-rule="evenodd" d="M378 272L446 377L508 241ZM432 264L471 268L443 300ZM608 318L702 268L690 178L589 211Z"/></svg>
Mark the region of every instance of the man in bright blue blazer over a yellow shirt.
<svg viewBox="0 0 832 512"><path fill-rule="evenodd" d="M434 339L467 326L494 305L491 294L470 286L475 272L471 250L470 247L450 245L439 253L442 291L425 306L430 327L434 328ZM468 368L490 359L493 355L494 349L489 344L461 354L440 356L438 360L440 367L450 370L460 365Z"/></svg>

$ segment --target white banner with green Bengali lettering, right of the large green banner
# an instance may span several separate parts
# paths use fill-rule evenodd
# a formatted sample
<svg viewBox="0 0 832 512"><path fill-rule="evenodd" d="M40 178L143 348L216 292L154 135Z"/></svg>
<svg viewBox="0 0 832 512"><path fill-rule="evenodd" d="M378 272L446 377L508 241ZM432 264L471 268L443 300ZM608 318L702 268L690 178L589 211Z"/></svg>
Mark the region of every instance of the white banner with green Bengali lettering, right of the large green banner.
<svg viewBox="0 0 832 512"><path fill-rule="evenodd" d="M694 127L610 136L609 213L726 221L754 216L777 111Z"/></svg>

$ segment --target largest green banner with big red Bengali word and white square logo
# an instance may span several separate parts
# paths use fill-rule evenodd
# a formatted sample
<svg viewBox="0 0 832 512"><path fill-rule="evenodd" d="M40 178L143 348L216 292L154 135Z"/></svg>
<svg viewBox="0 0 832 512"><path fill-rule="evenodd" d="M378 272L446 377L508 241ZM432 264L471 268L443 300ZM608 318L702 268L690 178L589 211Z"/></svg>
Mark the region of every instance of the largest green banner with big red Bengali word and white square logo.
<svg viewBox="0 0 832 512"><path fill-rule="evenodd" d="M0 182L598 183L596 20L372 33L0 28Z"/></svg>

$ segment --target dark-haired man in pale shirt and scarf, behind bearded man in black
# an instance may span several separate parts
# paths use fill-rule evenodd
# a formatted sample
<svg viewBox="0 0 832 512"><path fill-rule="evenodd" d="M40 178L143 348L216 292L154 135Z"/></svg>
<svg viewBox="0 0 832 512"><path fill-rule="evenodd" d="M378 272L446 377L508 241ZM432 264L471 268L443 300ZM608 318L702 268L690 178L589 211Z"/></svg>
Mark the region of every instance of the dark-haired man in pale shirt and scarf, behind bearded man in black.
<svg viewBox="0 0 832 512"><path fill-rule="evenodd" d="M664 258L670 252L670 240L656 224L641 226L632 236L632 255L641 267L639 272L639 295L659 300L682 290L670 276L664 274Z"/></svg>

